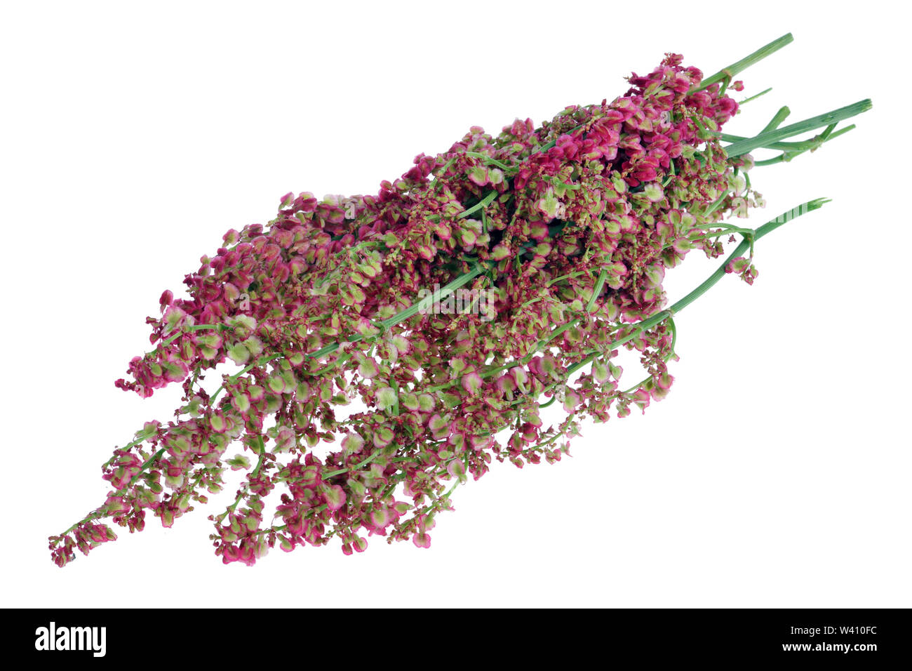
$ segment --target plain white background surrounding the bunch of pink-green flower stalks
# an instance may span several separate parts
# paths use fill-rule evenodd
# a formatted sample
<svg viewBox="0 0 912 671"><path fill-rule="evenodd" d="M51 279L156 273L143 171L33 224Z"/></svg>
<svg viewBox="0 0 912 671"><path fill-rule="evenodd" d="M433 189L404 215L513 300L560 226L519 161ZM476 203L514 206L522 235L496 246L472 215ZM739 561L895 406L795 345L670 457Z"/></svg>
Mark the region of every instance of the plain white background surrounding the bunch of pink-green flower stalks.
<svg viewBox="0 0 912 671"><path fill-rule="evenodd" d="M908 16L867 2L617 5L7 3L2 603L9 606L909 606ZM888 9L889 7L889 9ZM430 550L371 539L253 569L206 515L60 570L47 536L104 498L99 465L180 392L115 389L164 288L288 191L376 193L472 125L496 134L622 95L667 51L743 73L727 130L864 98L858 128L758 168L758 245L682 312L668 398L587 424L573 458L496 465L454 494ZM741 94L738 99L741 99ZM760 156L760 153L757 154ZM679 298L713 264L668 273ZM121 530L121 529L118 529Z"/></svg>

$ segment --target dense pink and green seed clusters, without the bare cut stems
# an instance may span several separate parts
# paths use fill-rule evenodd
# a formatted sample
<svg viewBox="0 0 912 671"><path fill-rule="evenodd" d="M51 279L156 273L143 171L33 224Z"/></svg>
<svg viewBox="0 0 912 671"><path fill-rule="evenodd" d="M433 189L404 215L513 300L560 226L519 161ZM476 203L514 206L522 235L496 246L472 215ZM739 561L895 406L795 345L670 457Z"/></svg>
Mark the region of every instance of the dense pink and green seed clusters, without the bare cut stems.
<svg viewBox="0 0 912 671"><path fill-rule="evenodd" d="M718 137L738 105L680 63L540 127L472 127L377 195L287 194L268 225L230 230L187 298L162 294L155 349L117 382L141 396L181 383L177 418L115 452L107 501L51 538L55 561L114 538L96 519L170 527L226 467L247 473L211 517L226 563L333 537L347 554L373 536L426 548L451 488L492 459L557 461L587 415L664 397L673 329L637 322L665 307L667 269L694 248L719 256L720 220L758 197L739 183L750 157ZM421 289L454 281L491 291L496 319L415 310ZM618 341L648 372L628 391ZM221 364L233 373L207 393ZM549 424L553 402L565 418Z"/></svg>

